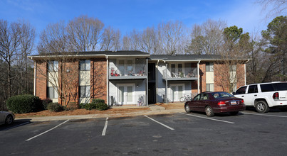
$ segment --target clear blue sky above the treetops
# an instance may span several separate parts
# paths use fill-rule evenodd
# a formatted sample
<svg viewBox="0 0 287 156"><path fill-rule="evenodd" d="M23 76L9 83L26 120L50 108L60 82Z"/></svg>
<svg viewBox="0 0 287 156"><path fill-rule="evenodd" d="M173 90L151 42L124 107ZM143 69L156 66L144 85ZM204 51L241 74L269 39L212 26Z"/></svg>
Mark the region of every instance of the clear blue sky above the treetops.
<svg viewBox="0 0 287 156"><path fill-rule="evenodd" d="M86 15L119 29L122 35L167 21L187 28L208 19L226 21L244 32L266 29L266 13L254 0L0 0L0 19L26 20L36 28L36 40L49 23Z"/></svg>

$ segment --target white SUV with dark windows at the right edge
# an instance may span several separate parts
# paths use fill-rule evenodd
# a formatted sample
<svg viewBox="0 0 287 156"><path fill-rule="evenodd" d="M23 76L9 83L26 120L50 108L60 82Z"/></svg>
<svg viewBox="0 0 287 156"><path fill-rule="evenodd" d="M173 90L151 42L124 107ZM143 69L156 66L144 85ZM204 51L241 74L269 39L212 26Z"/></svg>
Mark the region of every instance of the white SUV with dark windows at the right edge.
<svg viewBox="0 0 287 156"><path fill-rule="evenodd" d="M246 106L254 106L259 113L266 113L274 106L287 108L287 82L249 84L233 94L244 99Z"/></svg>

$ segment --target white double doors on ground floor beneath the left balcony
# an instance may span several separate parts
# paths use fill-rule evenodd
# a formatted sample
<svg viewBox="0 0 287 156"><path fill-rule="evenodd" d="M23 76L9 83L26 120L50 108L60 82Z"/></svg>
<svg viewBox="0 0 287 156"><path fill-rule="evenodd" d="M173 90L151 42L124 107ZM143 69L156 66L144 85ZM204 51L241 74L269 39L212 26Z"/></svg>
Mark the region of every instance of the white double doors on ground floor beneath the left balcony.
<svg viewBox="0 0 287 156"><path fill-rule="evenodd" d="M118 85L118 102L123 104L134 104L133 92L134 84L120 84Z"/></svg>

